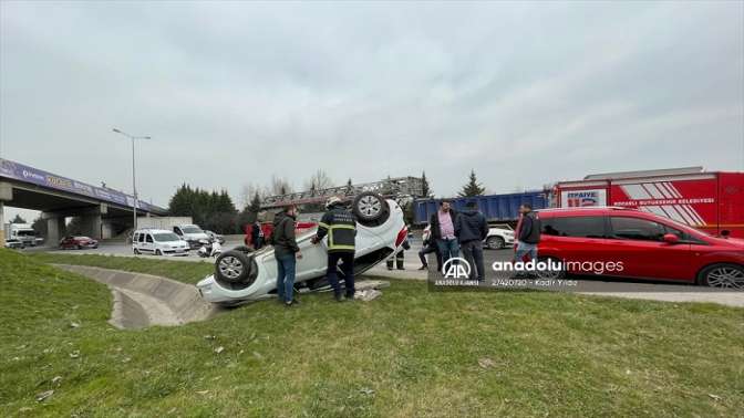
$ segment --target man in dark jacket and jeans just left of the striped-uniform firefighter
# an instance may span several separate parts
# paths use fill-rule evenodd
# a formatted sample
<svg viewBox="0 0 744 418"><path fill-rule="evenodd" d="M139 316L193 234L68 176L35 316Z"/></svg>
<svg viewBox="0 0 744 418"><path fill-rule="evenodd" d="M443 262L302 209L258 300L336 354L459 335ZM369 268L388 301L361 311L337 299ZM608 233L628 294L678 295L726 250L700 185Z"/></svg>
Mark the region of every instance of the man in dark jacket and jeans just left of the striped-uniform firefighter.
<svg viewBox="0 0 744 418"><path fill-rule="evenodd" d="M299 302L293 299L297 260L302 258L294 239L296 218L297 208L288 207L273 218L273 232L271 232L273 257L277 259L277 295L279 302L283 302L287 306Z"/></svg>

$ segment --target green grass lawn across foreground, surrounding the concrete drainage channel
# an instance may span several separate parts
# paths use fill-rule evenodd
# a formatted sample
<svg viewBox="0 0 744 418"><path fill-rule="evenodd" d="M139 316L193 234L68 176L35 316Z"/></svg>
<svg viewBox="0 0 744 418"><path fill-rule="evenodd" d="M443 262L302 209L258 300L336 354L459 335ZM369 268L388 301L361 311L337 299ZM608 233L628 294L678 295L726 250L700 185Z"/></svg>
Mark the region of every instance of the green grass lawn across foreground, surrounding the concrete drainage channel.
<svg viewBox="0 0 744 418"><path fill-rule="evenodd" d="M61 257L0 250L0 416L744 411L741 309L544 292L430 293L422 282L392 281L369 303L312 294L292 309L265 301L209 322L118 331L106 323L105 286L41 261L169 278L173 269L187 282L205 274L202 267ZM46 390L54 393L37 401Z"/></svg>

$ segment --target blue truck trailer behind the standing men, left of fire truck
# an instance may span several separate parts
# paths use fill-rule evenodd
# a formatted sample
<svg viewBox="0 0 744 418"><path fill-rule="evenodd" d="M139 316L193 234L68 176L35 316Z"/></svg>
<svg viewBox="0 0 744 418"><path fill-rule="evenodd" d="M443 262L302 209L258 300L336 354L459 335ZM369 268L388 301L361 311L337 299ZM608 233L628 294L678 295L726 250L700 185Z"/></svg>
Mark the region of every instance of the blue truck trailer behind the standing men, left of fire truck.
<svg viewBox="0 0 744 418"><path fill-rule="evenodd" d="M414 223L425 224L432 213L440 208L442 199L418 199L414 201ZM533 209L547 208L550 199L544 190L525 191L520 194L487 195L474 197L458 197L451 199L452 207L456 210L465 209L468 201L475 201L478 210L486 216L488 222L514 223L519 219L519 206L529 203Z"/></svg>

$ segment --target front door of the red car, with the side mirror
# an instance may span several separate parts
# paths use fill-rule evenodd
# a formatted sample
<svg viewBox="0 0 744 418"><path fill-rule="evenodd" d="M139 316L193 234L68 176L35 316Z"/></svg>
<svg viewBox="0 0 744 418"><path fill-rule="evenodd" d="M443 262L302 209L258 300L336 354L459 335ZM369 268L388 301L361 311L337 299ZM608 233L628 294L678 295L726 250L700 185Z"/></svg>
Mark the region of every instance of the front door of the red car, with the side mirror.
<svg viewBox="0 0 744 418"><path fill-rule="evenodd" d="M681 239L682 231L649 219L610 216L608 249L622 262L623 276L690 280L690 243L664 242L665 233Z"/></svg>

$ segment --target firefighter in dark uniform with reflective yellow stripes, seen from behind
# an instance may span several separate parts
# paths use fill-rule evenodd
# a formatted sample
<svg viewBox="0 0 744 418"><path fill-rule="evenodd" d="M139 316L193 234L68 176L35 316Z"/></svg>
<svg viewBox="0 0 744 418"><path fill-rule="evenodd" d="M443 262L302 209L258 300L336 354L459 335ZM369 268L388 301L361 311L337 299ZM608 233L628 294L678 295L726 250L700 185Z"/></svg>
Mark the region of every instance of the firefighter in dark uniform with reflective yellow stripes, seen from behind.
<svg viewBox="0 0 744 418"><path fill-rule="evenodd" d="M343 206L340 198L332 196L326 202L327 212L318 223L318 233L312 243L320 242L328 236L328 281L333 288L337 301L343 302L337 268L341 260L341 271L347 286L347 300L354 299L354 240L356 237L356 219Z"/></svg>

